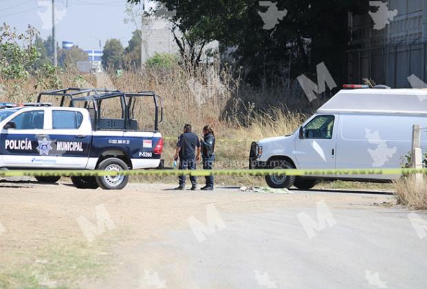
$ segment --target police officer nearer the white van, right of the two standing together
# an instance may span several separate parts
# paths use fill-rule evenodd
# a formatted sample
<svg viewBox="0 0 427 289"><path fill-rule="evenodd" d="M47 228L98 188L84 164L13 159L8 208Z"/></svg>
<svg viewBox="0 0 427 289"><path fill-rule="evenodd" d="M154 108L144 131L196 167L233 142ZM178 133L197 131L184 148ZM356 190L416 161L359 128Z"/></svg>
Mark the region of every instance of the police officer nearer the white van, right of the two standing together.
<svg viewBox="0 0 427 289"><path fill-rule="evenodd" d="M203 169L212 169L215 161L215 134L209 125L203 127L202 144ZM206 186L202 187L203 191L213 191L213 175L206 176Z"/></svg>

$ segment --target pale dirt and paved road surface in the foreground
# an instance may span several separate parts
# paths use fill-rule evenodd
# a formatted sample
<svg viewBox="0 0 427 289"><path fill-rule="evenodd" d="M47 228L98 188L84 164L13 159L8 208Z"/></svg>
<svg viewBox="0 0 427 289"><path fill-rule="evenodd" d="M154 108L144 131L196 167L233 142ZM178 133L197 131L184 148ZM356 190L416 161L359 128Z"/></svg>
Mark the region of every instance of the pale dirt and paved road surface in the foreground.
<svg viewBox="0 0 427 289"><path fill-rule="evenodd" d="M174 186L0 183L0 288L427 287L427 214L392 195Z"/></svg>

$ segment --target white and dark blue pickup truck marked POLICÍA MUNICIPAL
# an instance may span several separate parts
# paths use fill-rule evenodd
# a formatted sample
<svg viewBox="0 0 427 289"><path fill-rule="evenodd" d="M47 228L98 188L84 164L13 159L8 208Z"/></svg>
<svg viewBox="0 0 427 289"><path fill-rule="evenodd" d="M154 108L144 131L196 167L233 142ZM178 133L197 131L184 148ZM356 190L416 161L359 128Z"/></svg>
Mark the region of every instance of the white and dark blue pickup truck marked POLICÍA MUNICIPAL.
<svg viewBox="0 0 427 289"><path fill-rule="evenodd" d="M71 107L28 106L0 110L1 169L79 169L123 171L160 166L163 138L158 131L141 131L130 118L131 97L110 93L73 99ZM101 103L118 97L123 118L102 118ZM156 102L157 96L154 96ZM75 101L74 101L75 100ZM75 107L75 103L84 103ZM96 109L90 109L90 104ZM118 108L117 108L118 109ZM91 115L92 112L92 115ZM60 177L37 177L56 182ZM80 189L123 189L128 177L72 177Z"/></svg>

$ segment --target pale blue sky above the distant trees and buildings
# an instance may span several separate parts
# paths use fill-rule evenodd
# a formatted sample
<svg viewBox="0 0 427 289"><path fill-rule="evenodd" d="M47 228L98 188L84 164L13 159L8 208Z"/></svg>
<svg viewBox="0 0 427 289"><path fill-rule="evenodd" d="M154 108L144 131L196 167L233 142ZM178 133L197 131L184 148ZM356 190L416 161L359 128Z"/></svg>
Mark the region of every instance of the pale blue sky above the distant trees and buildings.
<svg viewBox="0 0 427 289"><path fill-rule="evenodd" d="M136 29L125 23L126 0L55 0L56 41L72 41L82 49L98 49L107 39L116 38L124 47ZM140 6L134 8L140 10ZM127 17L129 18L129 17ZM0 23L23 32L28 24L41 38L52 34L52 0L0 0Z"/></svg>

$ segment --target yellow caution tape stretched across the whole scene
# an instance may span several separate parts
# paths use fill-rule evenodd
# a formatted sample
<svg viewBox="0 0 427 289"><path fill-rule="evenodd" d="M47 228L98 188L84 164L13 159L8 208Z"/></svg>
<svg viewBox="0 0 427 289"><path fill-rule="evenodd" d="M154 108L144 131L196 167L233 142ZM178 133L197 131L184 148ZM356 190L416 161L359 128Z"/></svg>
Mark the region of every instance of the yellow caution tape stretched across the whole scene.
<svg viewBox="0 0 427 289"><path fill-rule="evenodd" d="M0 177L59 177L84 176L103 177L107 175L295 175L295 176L333 176L333 175L407 175L427 174L427 169L232 169L232 170L129 170L129 171L85 171L85 170L31 170L0 171Z"/></svg>

